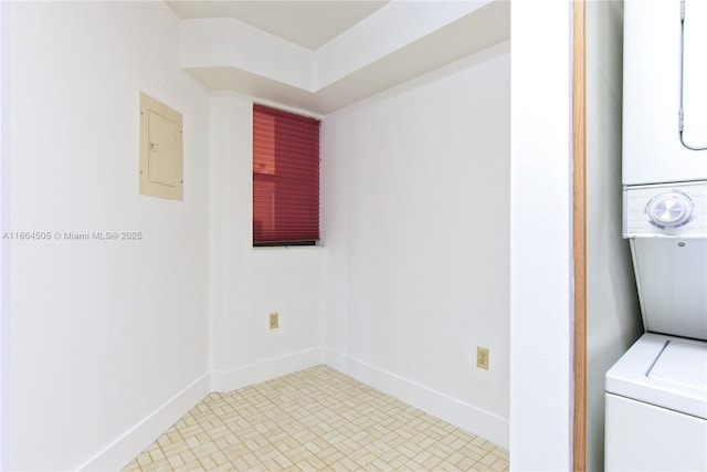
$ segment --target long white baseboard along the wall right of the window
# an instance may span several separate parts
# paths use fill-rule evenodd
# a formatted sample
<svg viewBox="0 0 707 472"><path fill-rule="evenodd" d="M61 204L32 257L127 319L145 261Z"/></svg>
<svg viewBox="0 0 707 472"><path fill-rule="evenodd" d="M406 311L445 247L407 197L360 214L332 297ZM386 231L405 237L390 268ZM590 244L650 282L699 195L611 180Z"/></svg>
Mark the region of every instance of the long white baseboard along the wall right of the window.
<svg viewBox="0 0 707 472"><path fill-rule="evenodd" d="M510 424L506 418L338 353L325 350L324 363L422 411L508 449Z"/></svg>

